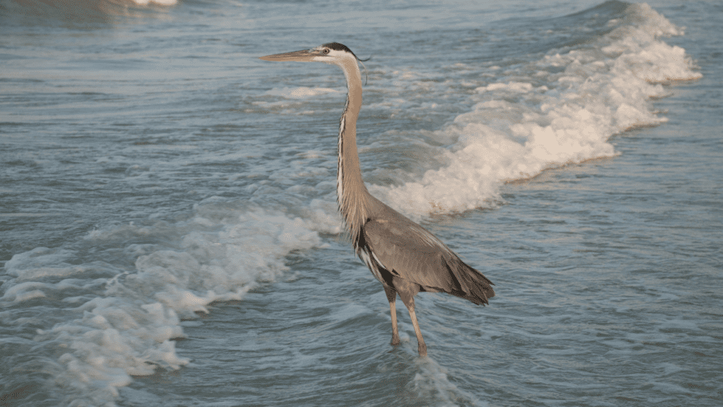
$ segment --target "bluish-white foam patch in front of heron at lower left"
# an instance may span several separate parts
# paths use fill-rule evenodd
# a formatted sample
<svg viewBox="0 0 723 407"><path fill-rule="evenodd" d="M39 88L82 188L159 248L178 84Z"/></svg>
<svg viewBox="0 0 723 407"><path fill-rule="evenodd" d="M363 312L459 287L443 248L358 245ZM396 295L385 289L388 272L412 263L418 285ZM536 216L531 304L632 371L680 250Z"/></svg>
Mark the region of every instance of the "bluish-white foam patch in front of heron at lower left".
<svg viewBox="0 0 723 407"><path fill-rule="evenodd" d="M174 338L184 336L181 319L208 312L213 301L240 300L257 282L273 280L286 270L286 254L320 246L317 230L332 231L324 225L333 220L317 214L322 210L318 205L306 210L313 220L305 220L210 199L183 222L90 233L88 239L98 245L125 245L125 253L136 259L124 272L110 265L72 266L65 261L74 253L62 249L20 253L6 264L14 278L4 283L0 302L53 296L71 306L80 304L67 310L76 318L38 330L35 340L58 343L65 350L56 361L53 380L74 390L69 405L112 406L118 387L128 385L133 375L189 363L175 349ZM160 241L163 236L174 236L178 247L124 243ZM89 269L91 278L72 278ZM93 278L103 274L114 277Z"/></svg>

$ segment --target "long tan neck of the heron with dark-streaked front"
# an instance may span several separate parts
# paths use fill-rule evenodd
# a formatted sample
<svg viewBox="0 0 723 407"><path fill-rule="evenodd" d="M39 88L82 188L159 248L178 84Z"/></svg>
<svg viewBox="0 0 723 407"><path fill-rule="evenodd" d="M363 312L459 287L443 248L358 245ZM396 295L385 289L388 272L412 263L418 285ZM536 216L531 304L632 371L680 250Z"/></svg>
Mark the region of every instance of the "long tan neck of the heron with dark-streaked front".
<svg viewBox="0 0 723 407"><path fill-rule="evenodd" d="M371 195L361 179L359 153L356 149L356 119L361 109L361 73L356 64L341 65L346 77L346 106L339 123L338 172L336 193L339 210L346 222L352 241L356 242L361 226L369 215Z"/></svg>

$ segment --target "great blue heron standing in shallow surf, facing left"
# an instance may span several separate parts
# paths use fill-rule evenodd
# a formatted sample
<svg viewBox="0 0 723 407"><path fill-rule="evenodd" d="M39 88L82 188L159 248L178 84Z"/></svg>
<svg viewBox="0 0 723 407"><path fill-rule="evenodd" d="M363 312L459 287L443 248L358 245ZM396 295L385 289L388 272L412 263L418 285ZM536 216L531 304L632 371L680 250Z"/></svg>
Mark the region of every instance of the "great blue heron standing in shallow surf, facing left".
<svg viewBox="0 0 723 407"><path fill-rule="evenodd" d="M487 304L495 296L492 282L469 267L444 243L373 197L361 180L356 152L356 118L361 109L359 58L341 43L325 43L315 49L261 56L265 61L325 62L341 67L346 77L346 106L339 125L336 193L339 210L351 236L354 251L384 285L392 314L392 345L399 343L395 301L397 293L409 310L419 343L419 356L427 345L414 313L414 295L448 293Z"/></svg>

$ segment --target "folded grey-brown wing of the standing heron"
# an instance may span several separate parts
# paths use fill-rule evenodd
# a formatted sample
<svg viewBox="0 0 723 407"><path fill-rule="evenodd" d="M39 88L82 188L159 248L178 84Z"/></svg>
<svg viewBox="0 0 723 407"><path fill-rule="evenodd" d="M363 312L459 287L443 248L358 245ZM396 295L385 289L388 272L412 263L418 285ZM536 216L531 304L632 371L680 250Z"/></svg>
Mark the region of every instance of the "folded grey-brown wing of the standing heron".
<svg viewBox="0 0 723 407"><path fill-rule="evenodd" d="M369 219L361 233L380 266L425 291L442 291L477 304L487 303L487 298L495 295L487 277L401 214Z"/></svg>

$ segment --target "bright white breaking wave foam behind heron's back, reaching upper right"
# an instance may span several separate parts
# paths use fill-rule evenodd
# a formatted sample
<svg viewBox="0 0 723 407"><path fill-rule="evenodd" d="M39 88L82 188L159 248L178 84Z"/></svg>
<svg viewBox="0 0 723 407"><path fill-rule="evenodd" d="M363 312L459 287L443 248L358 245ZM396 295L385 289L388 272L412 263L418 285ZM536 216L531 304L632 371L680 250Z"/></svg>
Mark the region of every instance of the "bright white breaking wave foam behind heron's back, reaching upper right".
<svg viewBox="0 0 723 407"><path fill-rule="evenodd" d="M471 112L434 134L456 140L437 157L450 164L372 192L415 218L494 206L501 182L613 156L610 136L667 121L650 101L666 95L660 83L701 77L685 50L658 39L683 30L647 4L610 24L617 28L591 46L548 54L513 68L507 75L515 80L476 88Z"/></svg>

